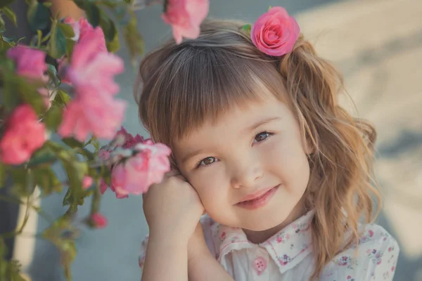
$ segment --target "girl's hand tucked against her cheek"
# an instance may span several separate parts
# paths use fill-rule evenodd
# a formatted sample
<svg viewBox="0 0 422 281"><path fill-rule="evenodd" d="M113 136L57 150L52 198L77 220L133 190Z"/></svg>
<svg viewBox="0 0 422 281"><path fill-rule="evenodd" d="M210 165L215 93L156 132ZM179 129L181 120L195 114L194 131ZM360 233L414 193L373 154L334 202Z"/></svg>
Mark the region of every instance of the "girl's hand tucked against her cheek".
<svg viewBox="0 0 422 281"><path fill-rule="evenodd" d="M187 243L203 211L196 190L176 171L167 173L161 183L152 185L143 195L150 237L177 237L179 242L184 239Z"/></svg>

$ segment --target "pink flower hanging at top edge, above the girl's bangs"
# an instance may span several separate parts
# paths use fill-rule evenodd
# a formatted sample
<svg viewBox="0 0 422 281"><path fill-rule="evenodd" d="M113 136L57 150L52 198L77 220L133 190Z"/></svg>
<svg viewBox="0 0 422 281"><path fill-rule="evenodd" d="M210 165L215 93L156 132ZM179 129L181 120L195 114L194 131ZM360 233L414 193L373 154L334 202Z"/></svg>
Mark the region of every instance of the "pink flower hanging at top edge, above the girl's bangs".
<svg viewBox="0 0 422 281"><path fill-rule="evenodd" d="M207 17L209 8L209 0L168 0L161 18L172 25L174 40L181 44L182 37L198 38L200 23Z"/></svg>

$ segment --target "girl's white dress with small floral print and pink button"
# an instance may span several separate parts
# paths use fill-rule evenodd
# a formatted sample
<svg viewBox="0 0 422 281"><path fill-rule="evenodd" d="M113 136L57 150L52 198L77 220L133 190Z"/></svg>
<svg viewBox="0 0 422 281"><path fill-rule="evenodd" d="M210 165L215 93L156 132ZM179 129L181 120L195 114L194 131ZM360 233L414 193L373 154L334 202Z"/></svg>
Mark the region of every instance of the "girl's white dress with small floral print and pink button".
<svg viewBox="0 0 422 281"><path fill-rule="evenodd" d="M241 228L220 225L208 216L201 224L208 248L234 280L309 281L315 261L309 228L313 215L310 211L261 244L249 242ZM148 237L141 245L141 268L147 244ZM386 230L366 225L359 244L335 256L320 280L392 280L398 255L399 246Z"/></svg>

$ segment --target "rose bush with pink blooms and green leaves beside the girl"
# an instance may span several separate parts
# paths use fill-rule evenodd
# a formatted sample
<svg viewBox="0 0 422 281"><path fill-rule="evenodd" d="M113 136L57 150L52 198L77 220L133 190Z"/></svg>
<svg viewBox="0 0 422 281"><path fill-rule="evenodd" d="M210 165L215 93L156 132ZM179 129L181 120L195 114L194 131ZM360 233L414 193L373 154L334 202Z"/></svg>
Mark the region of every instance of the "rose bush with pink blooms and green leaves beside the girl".
<svg viewBox="0 0 422 281"><path fill-rule="evenodd" d="M114 77L122 73L124 63L113 54L120 47L119 30L136 61L143 52L136 30L137 9L162 4L162 19L172 25L174 39L180 43L182 37L198 36L209 3L74 0L87 16L74 20L51 19L48 2L27 0L28 22L36 35L25 46L20 39L4 35L3 17L16 24L12 2L0 4L0 188L9 188L13 197L0 196L0 200L41 212L32 206L36 188L42 197L67 190L63 198L67 211L37 237L58 247L70 280L77 233L72 219L78 207L91 198L84 223L104 228L108 222L99 207L108 188L117 198L140 195L170 169L167 146L132 136L122 127L126 103L117 98ZM53 141L52 135L59 141ZM101 148L98 140L109 143ZM63 181L56 175L60 169L67 175ZM20 235L24 226L0 234L0 280L23 280L18 261L5 258L10 249L5 249L4 239Z"/></svg>

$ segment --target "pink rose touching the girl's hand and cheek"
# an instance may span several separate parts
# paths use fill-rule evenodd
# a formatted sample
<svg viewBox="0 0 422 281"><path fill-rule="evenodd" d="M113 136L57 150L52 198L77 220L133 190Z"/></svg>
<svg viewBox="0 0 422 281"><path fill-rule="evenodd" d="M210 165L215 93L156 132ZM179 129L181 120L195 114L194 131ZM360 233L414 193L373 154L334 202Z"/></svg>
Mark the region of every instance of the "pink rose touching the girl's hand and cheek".
<svg viewBox="0 0 422 281"><path fill-rule="evenodd" d="M139 152L125 162L117 164L111 173L111 186L119 195L140 195L153 183L160 183L170 171L167 146L151 140L135 145Z"/></svg>

